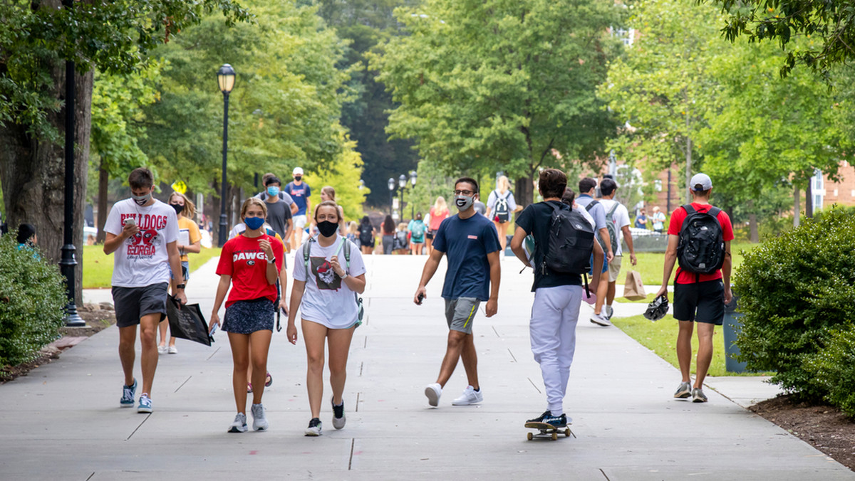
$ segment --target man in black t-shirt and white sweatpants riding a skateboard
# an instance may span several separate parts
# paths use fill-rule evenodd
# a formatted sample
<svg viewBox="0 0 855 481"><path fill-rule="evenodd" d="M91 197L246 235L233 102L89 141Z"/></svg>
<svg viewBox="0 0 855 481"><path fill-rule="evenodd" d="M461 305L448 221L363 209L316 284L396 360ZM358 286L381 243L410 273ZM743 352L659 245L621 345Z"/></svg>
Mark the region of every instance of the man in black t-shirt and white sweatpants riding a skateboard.
<svg viewBox="0 0 855 481"><path fill-rule="evenodd" d="M510 249L526 267L534 266L534 304L529 334L534 361L540 364L546 388L546 411L528 423L565 427L563 411L570 365L576 344L576 324L584 290L596 292L601 270L593 270L591 284L583 287L582 275L593 265L603 265L603 249L594 241L593 226L581 212L561 202L567 176L547 168L540 172L538 189L543 202L529 205L516 217ZM522 243L534 235L534 264L529 264Z"/></svg>

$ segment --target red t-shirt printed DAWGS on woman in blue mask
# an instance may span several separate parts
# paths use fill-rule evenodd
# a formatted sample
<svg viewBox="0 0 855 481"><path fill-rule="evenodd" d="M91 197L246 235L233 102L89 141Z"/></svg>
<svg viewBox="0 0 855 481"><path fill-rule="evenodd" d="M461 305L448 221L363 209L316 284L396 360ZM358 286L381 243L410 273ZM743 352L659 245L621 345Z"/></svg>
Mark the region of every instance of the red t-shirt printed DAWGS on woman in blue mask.
<svg viewBox="0 0 855 481"><path fill-rule="evenodd" d="M267 297L271 302L276 300L276 284L268 284L267 281L267 256L258 245L262 239L270 241L276 257L276 272L282 270L285 247L276 238L262 234L257 238L239 235L229 239L222 246L220 263L216 267L217 275L232 276L232 290L228 293L226 307L235 301L251 301L260 297Z"/></svg>

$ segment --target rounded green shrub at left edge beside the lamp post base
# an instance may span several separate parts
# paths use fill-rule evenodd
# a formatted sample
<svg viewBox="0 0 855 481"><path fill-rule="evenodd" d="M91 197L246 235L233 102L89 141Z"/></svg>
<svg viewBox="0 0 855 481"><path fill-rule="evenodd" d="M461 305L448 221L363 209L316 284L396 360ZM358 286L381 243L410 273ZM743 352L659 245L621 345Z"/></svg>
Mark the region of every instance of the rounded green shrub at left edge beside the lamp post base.
<svg viewBox="0 0 855 481"><path fill-rule="evenodd" d="M68 302L64 282L56 265L18 249L14 232L0 237L0 371L32 361L59 337Z"/></svg>

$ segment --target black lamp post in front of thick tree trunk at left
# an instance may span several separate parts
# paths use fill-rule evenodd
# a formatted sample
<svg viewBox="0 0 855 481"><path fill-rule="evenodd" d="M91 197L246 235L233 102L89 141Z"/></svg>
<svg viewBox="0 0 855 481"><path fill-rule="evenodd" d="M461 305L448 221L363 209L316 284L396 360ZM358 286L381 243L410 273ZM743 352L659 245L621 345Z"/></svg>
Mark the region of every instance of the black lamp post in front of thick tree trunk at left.
<svg viewBox="0 0 855 481"><path fill-rule="evenodd" d="M66 9L74 6L72 0L63 0ZM59 261L62 275L65 277L65 289L68 304L65 306L65 325L69 327L85 326L85 321L77 314L74 303L74 62L65 62L65 219L62 232L62 260Z"/></svg>

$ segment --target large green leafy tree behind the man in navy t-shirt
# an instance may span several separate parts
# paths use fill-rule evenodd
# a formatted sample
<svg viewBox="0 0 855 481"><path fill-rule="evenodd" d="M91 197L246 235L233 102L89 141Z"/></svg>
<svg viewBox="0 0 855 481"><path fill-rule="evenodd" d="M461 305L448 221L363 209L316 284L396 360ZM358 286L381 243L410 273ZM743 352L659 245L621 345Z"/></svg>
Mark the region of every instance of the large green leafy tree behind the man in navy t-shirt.
<svg viewBox="0 0 855 481"><path fill-rule="evenodd" d="M388 132L446 173L502 170L522 205L534 174L593 160L615 125L595 95L621 9L593 0L428 0L396 9L409 35L371 56L399 103Z"/></svg>

